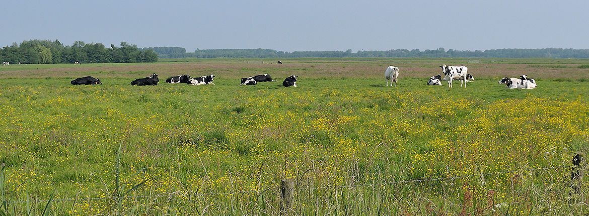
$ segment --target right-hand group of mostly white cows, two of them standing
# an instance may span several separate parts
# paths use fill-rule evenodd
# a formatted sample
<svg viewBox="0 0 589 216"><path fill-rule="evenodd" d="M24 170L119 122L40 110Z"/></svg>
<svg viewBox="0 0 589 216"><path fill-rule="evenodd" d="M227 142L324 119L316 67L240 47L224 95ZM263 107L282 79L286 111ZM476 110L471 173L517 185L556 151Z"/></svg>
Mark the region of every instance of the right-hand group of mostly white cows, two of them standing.
<svg viewBox="0 0 589 216"><path fill-rule="evenodd" d="M464 87L466 88L466 82L472 82L472 80L475 80L474 76L472 76L472 73L468 73L468 67L466 66L442 65L440 66L440 68L442 69L442 73L444 73L444 78L442 78L442 75L429 77L427 85L441 86L441 80L447 80L448 87L452 87L452 80L460 80L460 87L462 87L462 85L464 84ZM385 70L385 86L389 86L389 80L391 81L391 87L393 86L393 82L395 82L395 86L397 86L398 76L399 67L387 67ZM504 77L503 79L499 80L499 84L505 84L509 89L536 88L536 81L534 79L528 78L525 75L521 75L519 79L515 77Z"/></svg>

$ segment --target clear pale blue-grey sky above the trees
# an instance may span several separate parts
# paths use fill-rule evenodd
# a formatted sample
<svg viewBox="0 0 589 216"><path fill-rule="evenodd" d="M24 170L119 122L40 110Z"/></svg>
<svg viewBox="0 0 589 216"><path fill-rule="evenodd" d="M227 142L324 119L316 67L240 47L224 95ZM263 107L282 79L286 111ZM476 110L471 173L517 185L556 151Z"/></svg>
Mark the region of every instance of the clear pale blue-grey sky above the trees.
<svg viewBox="0 0 589 216"><path fill-rule="evenodd" d="M589 49L589 1L3 0L0 46L29 39L195 49Z"/></svg>

